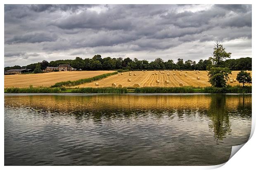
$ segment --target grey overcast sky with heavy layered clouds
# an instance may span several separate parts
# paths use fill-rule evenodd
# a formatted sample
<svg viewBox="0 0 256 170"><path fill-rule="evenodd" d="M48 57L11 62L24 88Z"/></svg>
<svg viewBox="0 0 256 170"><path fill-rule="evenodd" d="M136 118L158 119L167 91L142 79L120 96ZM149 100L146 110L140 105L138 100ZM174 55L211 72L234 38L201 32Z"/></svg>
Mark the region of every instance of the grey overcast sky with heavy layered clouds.
<svg viewBox="0 0 256 170"><path fill-rule="evenodd" d="M251 57L251 5L5 5L5 66L43 60Z"/></svg>

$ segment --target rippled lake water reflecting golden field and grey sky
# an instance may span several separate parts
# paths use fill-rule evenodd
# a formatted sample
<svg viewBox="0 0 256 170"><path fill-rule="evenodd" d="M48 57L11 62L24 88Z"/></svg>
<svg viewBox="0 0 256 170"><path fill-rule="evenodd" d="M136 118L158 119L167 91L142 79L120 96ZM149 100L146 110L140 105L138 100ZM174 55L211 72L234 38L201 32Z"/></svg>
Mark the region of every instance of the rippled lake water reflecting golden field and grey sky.
<svg viewBox="0 0 256 170"><path fill-rule="evenodd" d="M5 165L218 165L247 142L231 94L5 94Z"/></svg>

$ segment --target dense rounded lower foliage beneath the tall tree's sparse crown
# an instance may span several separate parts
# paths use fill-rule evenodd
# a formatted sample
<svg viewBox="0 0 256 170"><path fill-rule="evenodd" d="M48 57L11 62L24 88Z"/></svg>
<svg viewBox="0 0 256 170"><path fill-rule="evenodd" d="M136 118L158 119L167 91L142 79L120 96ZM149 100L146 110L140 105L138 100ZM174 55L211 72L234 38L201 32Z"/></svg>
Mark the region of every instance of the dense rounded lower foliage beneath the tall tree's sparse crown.
<svg viewBox="0 0 256 170"><path fill-rule="evenodd" d="M229 74L231 74L229 68L213 67L208 73L208 82L214 87L225 87L227 85Z"/></svg>

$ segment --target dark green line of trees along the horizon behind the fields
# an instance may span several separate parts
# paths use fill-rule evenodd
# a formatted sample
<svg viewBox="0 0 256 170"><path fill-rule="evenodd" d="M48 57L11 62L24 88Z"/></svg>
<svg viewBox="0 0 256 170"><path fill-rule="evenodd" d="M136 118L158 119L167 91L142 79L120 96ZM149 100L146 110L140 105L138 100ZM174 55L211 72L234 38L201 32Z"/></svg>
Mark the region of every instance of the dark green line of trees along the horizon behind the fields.
<svg viewBox="0 0 256 170"><path fill-rule="evenodd" d="M133 60L129 57L127 58L102 58L101 55L95 55L92 58L81 58L76 57L74 60L56 60L56 61L42 61L40 62L41 70L46 67L58 67L60 64L70 64L72 68L77 70L118 70L118 69L128 69L128 70L210 70L210 68L215 65L215 61L210 57L207 60L196 61L187 60L183 61L182 58L178 58L175 63L173 60L164 61L161 58L156 58L154 61L149 62L147 60L138 60L134 58ZM32 63L26 66L15 65L13 67L5 67L6 70L10 69L31 69L35 70L38 63ZM227 67L230 70L251 70L252 68L252 58L238 58L238 59L228 59L225 61L220 61L218 63L219 67Z"/></svg>

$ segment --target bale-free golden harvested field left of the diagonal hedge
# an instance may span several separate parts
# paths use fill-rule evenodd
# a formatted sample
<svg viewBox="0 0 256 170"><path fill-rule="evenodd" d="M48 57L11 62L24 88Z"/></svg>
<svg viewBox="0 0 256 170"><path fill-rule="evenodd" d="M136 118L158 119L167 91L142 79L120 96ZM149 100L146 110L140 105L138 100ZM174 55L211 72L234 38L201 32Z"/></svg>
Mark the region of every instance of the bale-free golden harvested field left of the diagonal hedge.
<svg viewBox="0 0 256 170"><path fill-rule="evenodd" d="M95 77L114 71L66 71L29 75L5 75L5 87L52 86L57 82L74 81ZM123 75L122 75L123 76ZM95 82L93 83L95 85Z"/></svg>

